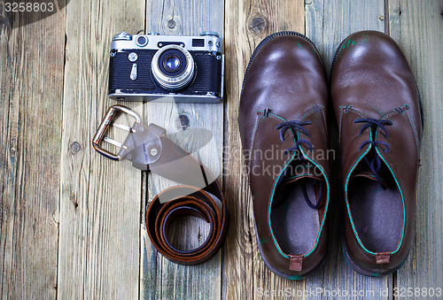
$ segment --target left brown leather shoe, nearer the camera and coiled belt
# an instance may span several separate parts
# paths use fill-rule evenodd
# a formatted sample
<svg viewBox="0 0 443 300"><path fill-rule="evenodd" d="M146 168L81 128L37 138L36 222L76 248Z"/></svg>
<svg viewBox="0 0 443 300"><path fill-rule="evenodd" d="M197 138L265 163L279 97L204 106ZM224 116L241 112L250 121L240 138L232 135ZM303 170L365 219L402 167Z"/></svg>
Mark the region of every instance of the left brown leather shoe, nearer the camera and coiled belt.
<svg viewBox="0 0 443 300"><path fill-rule="evenodd" d="M306 36L280 32L260 42L238 121L261 257L289 279L314 273L327 253L327 101L323 63Z"/></svg>

